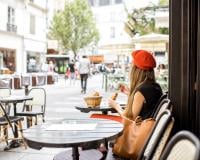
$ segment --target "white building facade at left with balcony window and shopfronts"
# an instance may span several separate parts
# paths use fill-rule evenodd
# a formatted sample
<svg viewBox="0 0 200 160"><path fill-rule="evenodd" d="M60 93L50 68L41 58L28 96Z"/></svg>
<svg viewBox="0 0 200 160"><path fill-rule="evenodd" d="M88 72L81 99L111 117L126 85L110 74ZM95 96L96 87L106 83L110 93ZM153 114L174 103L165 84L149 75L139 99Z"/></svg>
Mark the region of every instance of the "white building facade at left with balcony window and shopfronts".
<svg viewBox="0 0 200 160"><path fill-rule="evenodd" d="M47 0L1 0L0 10L0 68L40 71L47 50Z"/></svg>

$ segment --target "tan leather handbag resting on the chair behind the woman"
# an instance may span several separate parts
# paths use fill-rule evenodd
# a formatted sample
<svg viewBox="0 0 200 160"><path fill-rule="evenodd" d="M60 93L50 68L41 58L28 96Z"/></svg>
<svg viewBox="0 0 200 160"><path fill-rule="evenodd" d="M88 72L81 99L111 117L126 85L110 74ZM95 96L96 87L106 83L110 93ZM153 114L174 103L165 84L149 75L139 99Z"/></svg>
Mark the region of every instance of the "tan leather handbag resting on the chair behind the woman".
<svg viewBox="0 0 200 160"><path fill-rule="evenodd" d="M148 140L155 120L153 118L142 120L139 116L135 121L123 118L125 121L123 132L116 139L112 151L119 157L136 160L145 141Z"/></svg>

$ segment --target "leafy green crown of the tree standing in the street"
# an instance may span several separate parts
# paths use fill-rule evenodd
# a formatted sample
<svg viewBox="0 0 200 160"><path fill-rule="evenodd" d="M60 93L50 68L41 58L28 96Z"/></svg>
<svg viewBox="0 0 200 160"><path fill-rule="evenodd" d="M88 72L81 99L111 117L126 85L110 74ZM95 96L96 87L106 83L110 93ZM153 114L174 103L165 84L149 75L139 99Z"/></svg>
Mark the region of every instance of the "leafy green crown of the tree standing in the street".
<svg viewBox="0 0 200 160"><path fill-rule="evenodd" d="M80 49L96 45L99 32L87 0L66 1L64 10L54 15L49 35L74 56Z"/></svg>

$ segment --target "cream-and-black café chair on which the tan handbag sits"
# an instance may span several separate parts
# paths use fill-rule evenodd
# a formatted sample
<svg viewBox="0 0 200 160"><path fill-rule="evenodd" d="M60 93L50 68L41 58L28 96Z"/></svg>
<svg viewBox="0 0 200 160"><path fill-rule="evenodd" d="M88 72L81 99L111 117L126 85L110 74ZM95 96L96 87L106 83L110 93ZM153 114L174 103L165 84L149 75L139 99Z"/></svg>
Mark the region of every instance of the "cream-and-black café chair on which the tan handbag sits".
<svg viewBox="0 0 200 160"><path fill-rule="evenodd" d="M148 140L141 149L137 160L159 160L162 150L170 136L174 125L174 118L169 110L164 110L156 120L155 126ZM109 149L106 160L126 160L113 155Z"/></svg>

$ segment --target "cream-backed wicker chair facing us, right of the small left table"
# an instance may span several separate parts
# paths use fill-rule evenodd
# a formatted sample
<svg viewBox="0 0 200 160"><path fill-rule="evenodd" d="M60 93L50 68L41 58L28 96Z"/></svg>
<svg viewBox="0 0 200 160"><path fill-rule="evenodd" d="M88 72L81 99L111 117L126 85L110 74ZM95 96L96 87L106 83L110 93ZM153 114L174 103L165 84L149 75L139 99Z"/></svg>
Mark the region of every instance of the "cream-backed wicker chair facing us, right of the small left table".
<svg viewBox="0 0 200 160"><path fill-rule="evenodd" d="M33 97L33 100L26 101L22 112L17 112L16 115L27 117L27 127L30 127L33 124L33 118L35 118L35 125L38 123L38 116L42 116L42 121L45 121L46 91L44 88L32 88L28 95Z"/></svg>

